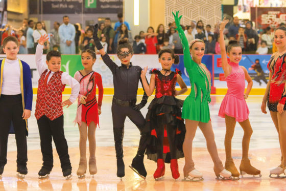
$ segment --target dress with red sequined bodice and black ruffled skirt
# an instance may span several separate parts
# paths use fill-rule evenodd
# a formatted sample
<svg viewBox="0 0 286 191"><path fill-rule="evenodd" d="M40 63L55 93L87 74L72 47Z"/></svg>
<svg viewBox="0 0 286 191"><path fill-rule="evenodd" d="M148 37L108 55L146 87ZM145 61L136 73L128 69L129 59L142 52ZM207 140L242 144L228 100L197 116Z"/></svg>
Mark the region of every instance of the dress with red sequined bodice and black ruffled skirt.
<svg viewBox="0 0 286 191"><path fill-rule="evenodd" d="M177 83L177 74L179 70L172 72L168 76L164 76L160 71L154 69L150 73L155 74L155 98L151 101L146 115L145 131L151 132L149 143L146 150L148 159L157 161L156 142L158 141L156 130L164 126L164 139L163 139L163 157L166 163L170 163L170 147L165 125L158 124L171 124L176 131L176 158L184 157L183 142L185 138L185 124L184 119L181 118L183 107L183 100L175 98L175 87ZM160 115L160 118L158 116ZM161 117L163 115L163 117Z"/></svg>

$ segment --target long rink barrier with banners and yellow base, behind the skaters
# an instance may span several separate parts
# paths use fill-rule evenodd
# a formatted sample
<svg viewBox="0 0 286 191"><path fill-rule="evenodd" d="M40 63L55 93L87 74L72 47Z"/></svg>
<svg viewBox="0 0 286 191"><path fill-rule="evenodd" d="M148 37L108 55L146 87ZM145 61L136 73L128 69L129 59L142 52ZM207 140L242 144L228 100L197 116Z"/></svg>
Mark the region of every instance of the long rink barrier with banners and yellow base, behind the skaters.
<svg viewBox="0 0 286 191"><path fill-rule="evenodd" d="M1 54L0 57L5 58L5 54ZM120 60L117 58L117 55L111 54L110 58L118 65L121 66ZM39 74L36 69L35 55L33 54L19 54L17 56L19 59L27 62L31 69L32 76L32 84L33 84L33 93L37 93ZM46 55L43 55L43 60L45 61ZM183 63L183 55L179 55L180 63L178 65L173 65L171 70L175 71L175 69L179 69L182 72L182 79L186 83L186 86L190 86L190 81L188 74L184 68ZM244 66L252 79L257 76L254 70L249 70L249 68L254 64L255 59L259 59L260 65L265 72L265 77L268 80L269 71L267 69L267 63L270 59L271 55L255 55L255 54L243 54L242 60L240 61L240 65ZM0 58L0 59L1 59ZM144 54L135 54L131 58L131 61L134 65L140 66L142 69L144 67L148 67L148 70L152 70L154 68L160 69L160 63L158 62L158 55L144 55ZM211 94L216 95L225 95L227 92L227 84L224 78L223 70L221 67L221 55L218 54L206 54L202 59L202 63L205 63L207 69L211 73ZM81 55L62 55L62 64L61 71L67 72L69 75L74 76L78 70L83 69L81 65ZM105 65L100 55L97 55L97 61L93 65L93 70L100 73L102 76L102 82L104 88L104 94L113 95L113 75L109 68ZM147 72L147 79L150 80L151 74ZM178 85L178 84L177 84ZM247 83L246 83L247 85ZM141 83L139 82L139 90L138 94L142 95L143 91L141 88ZM179 87L179 86L178 86ZM250 92L250 95L264 95L266 89L266 83L262 82L259 86L258 82L253 80L253 87ZM190 89L184 94L188 95ZM67 86L63 94L70 94L70 88Z"/></svg>

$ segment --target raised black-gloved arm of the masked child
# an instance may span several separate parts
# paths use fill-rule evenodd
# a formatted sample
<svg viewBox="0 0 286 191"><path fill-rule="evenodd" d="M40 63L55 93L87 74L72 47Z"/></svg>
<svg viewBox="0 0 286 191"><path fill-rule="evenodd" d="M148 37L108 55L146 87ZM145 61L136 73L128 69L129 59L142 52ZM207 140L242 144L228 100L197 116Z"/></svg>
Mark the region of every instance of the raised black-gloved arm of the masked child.
<svg viewBox="0 0 286 191"><path fill-rule="evenodd" d="M102 60L106 64L106 66L111 70L112 74L115 72L115 69L118 67L116 63L114 63L108 54L106 54L104 48L102 47L102 44L100 43L99 37L98 37L98 24L94 25L93 35L92 38L94 40L94 43L96 44L96 47L98 51L100 52L102 56Z"/></svg>

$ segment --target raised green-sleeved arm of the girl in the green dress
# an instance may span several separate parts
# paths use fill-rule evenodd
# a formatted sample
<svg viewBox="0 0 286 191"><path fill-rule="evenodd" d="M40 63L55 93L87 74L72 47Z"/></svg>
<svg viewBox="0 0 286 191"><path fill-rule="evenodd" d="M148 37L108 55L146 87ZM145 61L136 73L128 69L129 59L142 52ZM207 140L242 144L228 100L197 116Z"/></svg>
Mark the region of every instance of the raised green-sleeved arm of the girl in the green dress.
<svg viewBox="0 0 286 191"><path fill-rule="evenodd" d="M184 66L185 66L185 68L190 68L192 65L194 65L194 61L192 61L192 59L190 58L188 41L187 41L187 38L185 36L184 30L182 29L182 27L180 25L182 15L180 17L178 17L179 11L176 11L176 14L173 13L173 15L174 15L175 23L177 26L177 28L175 30L177 30L179 32L179 37L181 39L183 50L184 50Z"/></svg>

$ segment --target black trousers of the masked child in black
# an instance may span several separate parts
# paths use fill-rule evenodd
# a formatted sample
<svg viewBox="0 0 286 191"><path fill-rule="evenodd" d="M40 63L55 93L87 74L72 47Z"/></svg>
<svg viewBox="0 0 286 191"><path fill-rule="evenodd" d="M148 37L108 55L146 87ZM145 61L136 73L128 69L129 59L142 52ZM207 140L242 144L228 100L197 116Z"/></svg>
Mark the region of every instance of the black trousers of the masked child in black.
<svg viewBox="0 0 286 191"><path fill-rule="evenodd" d="M116 158L123 158L123 137L124 137L124 122L128 117L140 131L140 140L137 155L144 155L147 146L147 134L142 130L146 123L144 116L140 111L133 109L133 106L124 107L112 103L111 107L112 120L113 120L113 134L115 142Z"/></svg>

